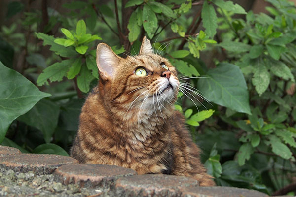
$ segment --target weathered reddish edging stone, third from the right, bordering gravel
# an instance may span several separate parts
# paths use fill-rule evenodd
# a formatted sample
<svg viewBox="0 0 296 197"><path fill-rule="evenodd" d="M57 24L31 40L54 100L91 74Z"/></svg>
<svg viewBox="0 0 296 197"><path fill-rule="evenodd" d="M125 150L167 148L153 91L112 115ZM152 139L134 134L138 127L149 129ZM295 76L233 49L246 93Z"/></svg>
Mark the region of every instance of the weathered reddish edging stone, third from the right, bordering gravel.
<svg viewBox="0 0 296 197"><path fill-rule="evenodd" d="M101 164L63 165L54 172L57 181L65 185L77 183L81 187L108 187L118 178L136 174L132 169Z"/></svg>

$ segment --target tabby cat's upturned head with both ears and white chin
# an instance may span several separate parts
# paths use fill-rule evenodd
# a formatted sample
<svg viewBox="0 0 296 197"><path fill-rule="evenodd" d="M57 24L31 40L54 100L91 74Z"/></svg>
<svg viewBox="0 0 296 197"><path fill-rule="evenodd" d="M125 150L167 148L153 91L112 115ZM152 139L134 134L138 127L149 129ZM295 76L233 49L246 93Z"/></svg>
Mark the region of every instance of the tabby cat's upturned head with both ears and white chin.
<svg viewBox="0 0 296 197"><path fill-rule="evenodd" d="M97 66L100 94L106 106L116 106L129 115L172 110L179 88L176 69L166 58L153 53L146 37L139 55L126 58L100 43Z"/></svg>

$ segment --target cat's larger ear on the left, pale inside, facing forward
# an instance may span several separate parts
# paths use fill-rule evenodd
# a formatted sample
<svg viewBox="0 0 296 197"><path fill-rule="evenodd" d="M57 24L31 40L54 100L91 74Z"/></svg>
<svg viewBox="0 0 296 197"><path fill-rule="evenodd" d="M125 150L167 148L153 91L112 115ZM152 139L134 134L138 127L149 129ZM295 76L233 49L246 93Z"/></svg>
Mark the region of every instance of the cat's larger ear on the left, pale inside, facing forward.
<svg viewBox="0 0 296 197"><path fill-rule="evenodd" d="M99 69L100 79L112 80L120 59L121 58L112 51L110 46L105 43L98 44L97 66Z"/></svg>

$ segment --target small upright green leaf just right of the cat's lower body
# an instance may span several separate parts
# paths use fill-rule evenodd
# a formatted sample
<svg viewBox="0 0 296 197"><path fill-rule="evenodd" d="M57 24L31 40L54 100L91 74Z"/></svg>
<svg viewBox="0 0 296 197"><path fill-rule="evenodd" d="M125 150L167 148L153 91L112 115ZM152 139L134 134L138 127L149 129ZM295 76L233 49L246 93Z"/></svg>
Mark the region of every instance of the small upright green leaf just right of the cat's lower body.
<svg viewBox="0 0 296 197"><path fill-rule="evenodd" d="M205 162L205 167L207 168L207 173L212 175L215 178L219 178L222 174L222 166L219 162L220 155L215 155L213 157L210 157Z"/></svg>

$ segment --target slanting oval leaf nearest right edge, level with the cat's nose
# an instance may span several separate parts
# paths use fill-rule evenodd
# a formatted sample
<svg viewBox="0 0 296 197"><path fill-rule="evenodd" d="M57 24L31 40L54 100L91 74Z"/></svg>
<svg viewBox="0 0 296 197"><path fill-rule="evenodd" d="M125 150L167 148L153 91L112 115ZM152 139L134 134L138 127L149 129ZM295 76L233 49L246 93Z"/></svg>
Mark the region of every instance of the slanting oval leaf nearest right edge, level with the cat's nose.
<svg viewBox="0 0 296 197"><path fill-rule="evenodd" d="M291 81L295 81L294 76L291 72L291 69L285 65L282 61L276 61L272 59L267 60L267 64L270 65L270 71L278 77L281 77L285 80L291 79Z"/></svg>

